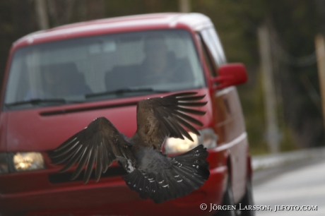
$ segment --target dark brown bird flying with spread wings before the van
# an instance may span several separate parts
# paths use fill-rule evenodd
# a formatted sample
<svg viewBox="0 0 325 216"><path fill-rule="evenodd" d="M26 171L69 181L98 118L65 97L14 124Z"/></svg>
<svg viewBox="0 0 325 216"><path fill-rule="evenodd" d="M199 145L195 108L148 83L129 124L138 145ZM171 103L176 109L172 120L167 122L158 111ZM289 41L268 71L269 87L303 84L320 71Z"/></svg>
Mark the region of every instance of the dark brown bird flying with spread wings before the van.
<svg viewBox="0 0 325 216"><path fill-rule="evenodd" d="M193 141L185 128L199 135L192 124L203 124L189 114L206 113L191 108L203 107L207 103L200 102L203 97L196 92L182 92L142 100L136 107L137 130L131 138L119 133L105 117L99 117L59 145L49 157L53 164L65 164L59 172L78 163L71 180L85 167L84 184L94 167L98 181L101 173L117 160L128 172L122 176L126 185L141 198L162 203L185 196L208 179L208 152L203 145L198 145L182 155L167 157L161 148L167 137Z"/></svg>

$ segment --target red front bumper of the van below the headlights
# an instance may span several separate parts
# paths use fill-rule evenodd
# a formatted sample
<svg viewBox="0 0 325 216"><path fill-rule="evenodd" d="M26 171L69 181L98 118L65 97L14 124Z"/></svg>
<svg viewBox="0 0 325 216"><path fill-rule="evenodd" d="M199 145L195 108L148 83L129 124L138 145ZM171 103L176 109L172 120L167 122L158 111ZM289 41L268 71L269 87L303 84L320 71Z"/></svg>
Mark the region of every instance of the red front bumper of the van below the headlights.
<svg viewBox="0 0 325 216"><path fill-rule="evenodd" d="M200 204L220 204L225 190L227 167L210 152L210 177L188 196L155 204L142 200L126 186L121 176L82 181L51 182L59 167L37 172L0 175L1 215L206 215ZM49 165L51 166L51 165ZM115 168L114 168L115 167ZM116 169L113 166L112 169ZM107 170L110 172L110 170Z"/></svg>

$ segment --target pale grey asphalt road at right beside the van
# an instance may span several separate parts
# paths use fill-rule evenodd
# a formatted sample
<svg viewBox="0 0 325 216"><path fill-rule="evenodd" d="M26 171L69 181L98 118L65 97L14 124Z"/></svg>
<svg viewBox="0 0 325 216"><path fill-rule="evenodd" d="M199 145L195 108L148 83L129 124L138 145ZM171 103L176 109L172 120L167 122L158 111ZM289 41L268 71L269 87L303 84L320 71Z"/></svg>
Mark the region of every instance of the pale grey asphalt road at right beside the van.
<svg viewBox="0 0 325 216"><path fill-rule="evenodd" d="M253 193L255 205L266 206L256 216L324 216L325 158L255 172Z"/></svg>

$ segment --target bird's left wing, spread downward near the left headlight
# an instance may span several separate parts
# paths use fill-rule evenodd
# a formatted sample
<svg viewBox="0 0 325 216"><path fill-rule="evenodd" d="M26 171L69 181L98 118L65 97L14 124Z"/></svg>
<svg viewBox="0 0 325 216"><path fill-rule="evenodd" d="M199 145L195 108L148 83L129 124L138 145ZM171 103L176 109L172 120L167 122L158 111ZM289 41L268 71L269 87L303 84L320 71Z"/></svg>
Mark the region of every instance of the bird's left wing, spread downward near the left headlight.
<svg viewBox="0 0 325 216"><path fill-rule="evenodd" d="M96 164L95 179L98 181L100 174L106 172L117 157L124 157L134 162L131 144L105 117L92 121L85 129L71 136L53 150L49 157L54 164L66 164L59 172L68 170L78 162L71 179L76 179L86 165L83 176L84 184L88 182L94 164Z"/></svg>

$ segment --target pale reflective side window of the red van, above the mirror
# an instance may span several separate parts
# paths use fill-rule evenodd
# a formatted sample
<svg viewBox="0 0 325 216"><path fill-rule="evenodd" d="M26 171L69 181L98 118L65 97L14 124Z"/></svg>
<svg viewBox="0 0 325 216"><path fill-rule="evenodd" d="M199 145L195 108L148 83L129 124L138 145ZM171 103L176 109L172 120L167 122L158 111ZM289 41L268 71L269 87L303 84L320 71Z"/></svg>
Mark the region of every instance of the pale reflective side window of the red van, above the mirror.
<svg viewBox="0 0 325 216"><path fill-rule="evenodd" d="M201 31L201 37L208 51L212 54L215 64L220 66L226 63L225 53L214 28L206 28Z"/></svg>

